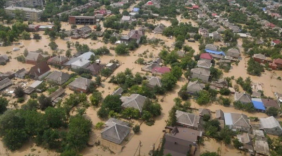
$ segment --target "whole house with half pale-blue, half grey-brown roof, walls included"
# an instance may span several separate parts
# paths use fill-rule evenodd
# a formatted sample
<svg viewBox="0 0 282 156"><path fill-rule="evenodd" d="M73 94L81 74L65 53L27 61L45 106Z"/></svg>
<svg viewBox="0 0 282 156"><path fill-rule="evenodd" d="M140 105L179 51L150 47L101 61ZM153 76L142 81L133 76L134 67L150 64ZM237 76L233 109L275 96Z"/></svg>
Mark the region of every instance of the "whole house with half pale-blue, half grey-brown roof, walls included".
<svg viewBox="0 0 282 156"><path fill-rule="evenodd" d="M241 113L223 113L224 122L233 131L249 132L251 129L250 121L247 115Z"/></svg>

